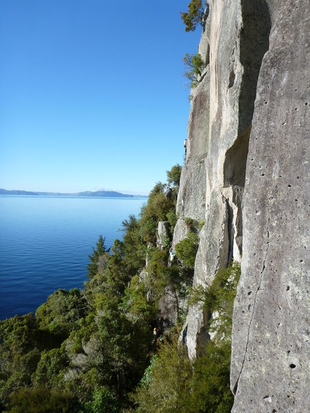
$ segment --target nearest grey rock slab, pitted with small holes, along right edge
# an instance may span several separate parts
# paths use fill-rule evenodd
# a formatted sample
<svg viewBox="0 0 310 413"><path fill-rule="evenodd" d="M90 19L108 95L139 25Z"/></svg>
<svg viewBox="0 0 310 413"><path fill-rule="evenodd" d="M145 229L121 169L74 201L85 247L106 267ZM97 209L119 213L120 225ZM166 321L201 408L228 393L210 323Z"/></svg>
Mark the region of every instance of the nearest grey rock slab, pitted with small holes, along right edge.
<svg viewBox="0 0 310 413"><path fill-rule="evenodd" d="M310 405L309 1L277 6L243 198L231 357L235 413L307 412Z"/></svg>

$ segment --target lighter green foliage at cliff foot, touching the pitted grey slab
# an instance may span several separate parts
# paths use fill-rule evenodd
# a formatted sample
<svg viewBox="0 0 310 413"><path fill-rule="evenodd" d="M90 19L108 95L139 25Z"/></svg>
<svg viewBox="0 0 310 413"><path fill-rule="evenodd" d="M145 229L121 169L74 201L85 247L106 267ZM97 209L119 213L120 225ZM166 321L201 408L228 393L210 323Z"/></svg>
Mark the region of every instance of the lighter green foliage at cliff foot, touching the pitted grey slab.
<svg viewBox="0 0 310 413"><path fill-rule="evenodd" d="M219 271L208 288L196 290L193 302L220 314L216 336L189 362L177 337L165 341L136 390L137 412L228 413L234 401L229 388L231 319L240 266Z"/></svg>

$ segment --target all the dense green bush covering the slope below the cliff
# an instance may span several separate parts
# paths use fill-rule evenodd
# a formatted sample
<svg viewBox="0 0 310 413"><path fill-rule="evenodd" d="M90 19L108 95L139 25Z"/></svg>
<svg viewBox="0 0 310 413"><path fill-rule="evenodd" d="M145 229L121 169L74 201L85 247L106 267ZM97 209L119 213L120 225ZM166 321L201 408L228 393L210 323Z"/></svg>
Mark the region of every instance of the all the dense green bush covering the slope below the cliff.
<svg viewBox="0 0 310 413"><path fill-rule="evenodd" d="M177 303L189 294L198 246L197 223L188 220L192 230L176 246L174 262L169 236L156 248L158 220L168 220L170 232L176 223L180 167L167 178L169 187L155 185L139 218L123 221L123 240L115 240L110 252L100 235L82 290L58 290L35 316L0 321L0 411L229 411L236 266L193 293L218 320L217 335L201 349L194 370L186 348L178 345L184 306L176 309L175 330L153 335L161 326L165 289Z"/></svg>

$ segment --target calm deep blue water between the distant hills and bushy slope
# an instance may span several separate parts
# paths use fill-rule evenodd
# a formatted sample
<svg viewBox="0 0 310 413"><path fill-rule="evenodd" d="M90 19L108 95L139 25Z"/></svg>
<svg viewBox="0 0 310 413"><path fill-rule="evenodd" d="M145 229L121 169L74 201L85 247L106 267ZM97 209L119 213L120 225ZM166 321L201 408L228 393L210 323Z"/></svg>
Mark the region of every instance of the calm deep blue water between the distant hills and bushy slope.
<svg viewBox="0 0 310 413"><path fill-rule="evenodd" d="M0 319L34 312L58 288L81 288L99 235L112 246L144 202L0 195Z"/></svg>

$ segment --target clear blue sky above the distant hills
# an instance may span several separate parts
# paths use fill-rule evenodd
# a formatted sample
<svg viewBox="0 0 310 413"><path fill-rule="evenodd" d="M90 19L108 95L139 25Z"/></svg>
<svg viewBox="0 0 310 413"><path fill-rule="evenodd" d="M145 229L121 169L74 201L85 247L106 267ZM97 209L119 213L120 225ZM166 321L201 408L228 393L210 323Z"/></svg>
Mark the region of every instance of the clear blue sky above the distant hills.
<svg viewBox="0 0 310 413"><path fill-rule="evenodd" d="M0 188L146 194L183 163L189 0L2 0Z"/></svg>

